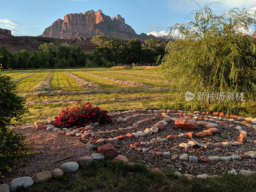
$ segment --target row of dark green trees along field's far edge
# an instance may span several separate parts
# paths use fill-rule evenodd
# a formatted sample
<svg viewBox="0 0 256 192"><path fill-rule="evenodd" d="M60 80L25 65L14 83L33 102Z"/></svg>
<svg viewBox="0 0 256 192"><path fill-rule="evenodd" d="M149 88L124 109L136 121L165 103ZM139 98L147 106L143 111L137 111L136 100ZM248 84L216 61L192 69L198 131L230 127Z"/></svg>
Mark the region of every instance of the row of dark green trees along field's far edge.
<svg viewBox="0 0 256 192"><path fill-rule="evenodd" d="M94 36L92 42L98 47L85 52L80 46L45 43L39 51L29 55L27 50L10 52L0 45L0 63L3 68L67 68L67 67L112 67L116 64L153 63L165 53L165 43L148 39L144 43L103 35Z"/></svg>

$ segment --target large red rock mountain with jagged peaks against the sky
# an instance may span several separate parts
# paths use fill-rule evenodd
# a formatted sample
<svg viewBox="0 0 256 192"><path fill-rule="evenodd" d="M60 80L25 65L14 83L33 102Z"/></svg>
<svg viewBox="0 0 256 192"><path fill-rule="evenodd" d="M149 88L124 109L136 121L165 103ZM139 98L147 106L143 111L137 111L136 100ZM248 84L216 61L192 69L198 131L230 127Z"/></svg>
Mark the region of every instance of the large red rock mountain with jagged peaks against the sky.
<svg viewBox="0 0 256 192"><path fill-rule="evenodd" d="M52 23L40 36L61 39L75 39L76 37L93 37L95 35L106 35L121 39L146 39L156 38L147 34L137 35L130 25L125 24L121 15L110 18L101 10L93 10L83 13L69 13L64 20L58 19Z"/></svg>

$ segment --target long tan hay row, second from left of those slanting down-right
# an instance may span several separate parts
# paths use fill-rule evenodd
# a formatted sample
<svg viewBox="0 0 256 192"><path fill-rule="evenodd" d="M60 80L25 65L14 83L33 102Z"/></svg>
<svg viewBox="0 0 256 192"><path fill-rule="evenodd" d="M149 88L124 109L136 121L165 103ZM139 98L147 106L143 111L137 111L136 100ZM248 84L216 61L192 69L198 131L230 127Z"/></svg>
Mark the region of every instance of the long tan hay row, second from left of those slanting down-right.
<svg viewBox="0 0 256 192"><path fill-rule="evenodd" d="M76 70L76 69L74 69L74 70ZM76 70L76 71L78 71L78 70ZM79 72L85 73L87 75L107 79L107 80L110 80L110 81L114 81L116 84L120 84L120 85L128 85L128 86L134 86L134 87L150 87L146 84L138 83L138 82L134 82L134 81L125 81L125 80L121 80L121 79L116 79L114 77L106 77L106 76L102 76L102 75L96 75L96 74L93 74L93 73L87 73L85 71L79 71Z"/></svg>

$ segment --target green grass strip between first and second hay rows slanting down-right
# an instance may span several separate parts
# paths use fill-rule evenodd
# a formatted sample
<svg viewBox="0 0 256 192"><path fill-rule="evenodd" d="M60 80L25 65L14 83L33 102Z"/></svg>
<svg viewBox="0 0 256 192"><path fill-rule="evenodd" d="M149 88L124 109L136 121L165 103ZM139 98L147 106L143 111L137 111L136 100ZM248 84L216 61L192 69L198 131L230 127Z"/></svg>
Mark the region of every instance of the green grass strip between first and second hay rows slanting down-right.
<svg viewBox="0 0 256 192"><path fill-rule="evenodd" d="M69 72L85 79L88 82L92 82L94 84L100 85L102 87L102 89L104 89L104 90L140 89L140 87L117 84L114 81L104 79L104 78L101 78L98 76L93 76L93 74L88 74L88 73L82 72L82 71L69 70Z"/></svg>

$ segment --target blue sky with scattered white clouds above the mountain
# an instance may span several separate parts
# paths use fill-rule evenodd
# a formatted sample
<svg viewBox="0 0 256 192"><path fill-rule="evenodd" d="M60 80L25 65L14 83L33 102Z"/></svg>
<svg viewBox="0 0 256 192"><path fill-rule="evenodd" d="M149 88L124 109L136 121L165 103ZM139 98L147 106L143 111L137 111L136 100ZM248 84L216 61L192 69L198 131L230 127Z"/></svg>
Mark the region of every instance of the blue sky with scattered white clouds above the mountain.
<svg viewBox="0 0 256 192"><path fill-rule="evenodd" d="M212 1L197 2L204 5ZM219 2L223 4L212 6L218 14L233 7L256 10L256 0ZM101 9L111 18L120 14L137 34L163 35L169 26L182 22L196 8L196 4L188 0L0 0L0 28L12 30L14 36L38 36L68 13Z"/></svg>

